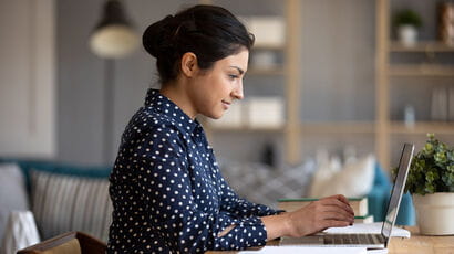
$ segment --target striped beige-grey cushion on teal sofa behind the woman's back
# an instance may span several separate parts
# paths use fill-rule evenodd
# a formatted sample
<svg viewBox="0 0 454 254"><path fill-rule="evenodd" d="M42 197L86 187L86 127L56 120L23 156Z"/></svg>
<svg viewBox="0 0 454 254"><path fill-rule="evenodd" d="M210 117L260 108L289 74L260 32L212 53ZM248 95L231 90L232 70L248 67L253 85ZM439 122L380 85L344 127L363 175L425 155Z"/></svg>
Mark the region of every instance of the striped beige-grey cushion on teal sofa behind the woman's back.
<svg viewBox="0 0 454 254"><path fill-rule="evenodd" d="M112 214L107 179L32 170L31 195L42 239L81 231L107 240Z"/></svg>

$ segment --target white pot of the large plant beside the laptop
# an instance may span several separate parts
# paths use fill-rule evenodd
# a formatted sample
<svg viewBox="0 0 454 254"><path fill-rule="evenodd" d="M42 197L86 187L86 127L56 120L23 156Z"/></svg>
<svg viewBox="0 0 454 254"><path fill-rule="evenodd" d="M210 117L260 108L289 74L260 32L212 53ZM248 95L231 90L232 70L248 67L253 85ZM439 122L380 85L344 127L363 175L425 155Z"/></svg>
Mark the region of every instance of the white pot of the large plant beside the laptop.
<svg viewBox="0 0 454 254"><path fill-rule="evenodd" d="M413 194L421 234L454 234L454 192Z"/></svg>

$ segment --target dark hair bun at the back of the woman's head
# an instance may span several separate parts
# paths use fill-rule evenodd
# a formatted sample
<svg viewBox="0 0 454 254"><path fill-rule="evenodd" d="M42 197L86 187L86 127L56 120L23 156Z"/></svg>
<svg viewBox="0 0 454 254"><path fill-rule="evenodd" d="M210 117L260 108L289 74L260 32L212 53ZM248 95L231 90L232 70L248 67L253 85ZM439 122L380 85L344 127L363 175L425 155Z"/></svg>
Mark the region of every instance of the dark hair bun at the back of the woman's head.
<svg viewBox="0 0 454 254"><path fill-rule="evenodd" d="M151 24L142 35L142 44L146 52L148 52L154 57L157 57L161 51L163 51L165 45L169 45L168 34L172 29L168 29L173 15L167 15L166 18Z"/></svg>

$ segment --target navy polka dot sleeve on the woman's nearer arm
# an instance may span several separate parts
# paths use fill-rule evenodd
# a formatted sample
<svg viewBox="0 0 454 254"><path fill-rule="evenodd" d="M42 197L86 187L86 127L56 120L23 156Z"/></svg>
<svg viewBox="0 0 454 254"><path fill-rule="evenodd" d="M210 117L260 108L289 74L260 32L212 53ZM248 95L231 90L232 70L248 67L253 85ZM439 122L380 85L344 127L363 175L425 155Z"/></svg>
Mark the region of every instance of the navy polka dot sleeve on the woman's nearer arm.
<svg viewBox="0 0 454 254"><path fill-rule="evenodd" d="M199 253L265 245L267 233L259 218L239 218L221 210L205 213L197 207L178 130L163 127L149 134L153 137L143 138L146 141L134 148L136 180L152 230L167 246L174 252ZM231 224L235 229L219 237Z"/></svg>

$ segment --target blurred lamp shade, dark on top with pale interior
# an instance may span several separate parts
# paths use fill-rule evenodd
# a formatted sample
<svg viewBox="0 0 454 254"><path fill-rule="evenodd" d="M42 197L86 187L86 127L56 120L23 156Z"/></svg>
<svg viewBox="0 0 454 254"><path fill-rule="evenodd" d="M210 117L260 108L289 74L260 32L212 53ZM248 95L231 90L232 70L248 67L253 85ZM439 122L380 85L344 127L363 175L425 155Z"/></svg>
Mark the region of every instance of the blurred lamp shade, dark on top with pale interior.
<svg viewBox="0 0 454 254"><path fill-rule="evenodd" d="M101 22L90 38L94 54L105 59L120 59L138 46L138 34L126 19L118 0L107 0Z"/></svg>

